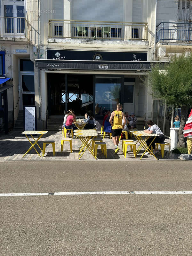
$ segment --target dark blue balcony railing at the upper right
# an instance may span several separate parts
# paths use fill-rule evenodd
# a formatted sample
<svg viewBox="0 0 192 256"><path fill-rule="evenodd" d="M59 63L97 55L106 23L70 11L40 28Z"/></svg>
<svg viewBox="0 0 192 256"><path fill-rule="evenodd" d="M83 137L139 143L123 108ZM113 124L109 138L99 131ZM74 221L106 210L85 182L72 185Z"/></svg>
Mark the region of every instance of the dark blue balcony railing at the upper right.
<svg viewBox="0 0 192 256"><path fill-rule="evenodd" d="M158 41L192 43L192 23L159 23L156 28L156 42Z"/></svg>

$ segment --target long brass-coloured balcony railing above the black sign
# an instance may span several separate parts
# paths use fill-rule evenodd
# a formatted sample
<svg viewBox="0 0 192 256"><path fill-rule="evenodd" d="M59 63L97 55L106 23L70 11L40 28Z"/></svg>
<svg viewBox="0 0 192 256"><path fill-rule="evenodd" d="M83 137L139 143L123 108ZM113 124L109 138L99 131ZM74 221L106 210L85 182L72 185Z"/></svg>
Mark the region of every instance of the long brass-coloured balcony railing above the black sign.
<svg viewBox="0 0 192 256"><path fill-rule="evenodd" d="M49 20L49 38L148 40L148 23Z"/></svg>

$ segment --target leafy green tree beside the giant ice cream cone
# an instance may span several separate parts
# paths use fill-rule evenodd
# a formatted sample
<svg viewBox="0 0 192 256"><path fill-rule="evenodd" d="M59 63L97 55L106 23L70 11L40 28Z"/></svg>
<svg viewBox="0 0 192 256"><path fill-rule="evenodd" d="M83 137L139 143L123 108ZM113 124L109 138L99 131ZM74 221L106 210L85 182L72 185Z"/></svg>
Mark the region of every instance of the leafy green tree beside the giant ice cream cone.
<svg viewBox="0 0 192 256"><path fill-rule="evenodd" d="M149 72L149 84L153 91L166 100L169 106L181 108L179 142L177 147L185 147L183 127L188 117L188 109L192 106L192 54L177 57L174 55L169 64L160 64Z"/></svg>

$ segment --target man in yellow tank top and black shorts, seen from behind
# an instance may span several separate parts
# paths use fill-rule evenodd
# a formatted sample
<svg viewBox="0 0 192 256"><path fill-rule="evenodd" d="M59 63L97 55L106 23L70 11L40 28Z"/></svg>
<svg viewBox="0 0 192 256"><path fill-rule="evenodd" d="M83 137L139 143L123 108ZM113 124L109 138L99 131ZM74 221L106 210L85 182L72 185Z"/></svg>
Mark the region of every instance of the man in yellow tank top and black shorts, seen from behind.
<svg viewBox="0 0 192 256"><path fill-rule="evenodd" d="M112 139L115 145L115 154L119 151L118 144L119 144L119 137L121 136L122 130L124 125L126 124L126 119L124 113L121 111L122 105L117 103L117 110L111 113L109 123L112 125ZM123 119L123 124L122 124ZM113 123L112 123L113 120Z"/></svg>

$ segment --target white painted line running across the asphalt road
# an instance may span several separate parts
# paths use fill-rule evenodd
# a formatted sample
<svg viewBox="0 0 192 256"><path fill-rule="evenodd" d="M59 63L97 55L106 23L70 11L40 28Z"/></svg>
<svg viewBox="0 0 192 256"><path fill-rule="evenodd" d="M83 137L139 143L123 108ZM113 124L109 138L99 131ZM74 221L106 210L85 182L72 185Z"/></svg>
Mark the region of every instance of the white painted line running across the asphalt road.
<svg viewBox="0 0 192 256"><path fill-rule="evenodd" d="M53 193L53 192L52 192ZM50 193L2 193L0 196L50 196ZM92 191L92 192L54 192L54 196L70 196L70 195L123 195L123 194L139 194L139 195L172 195L172 194L192 194L192 191Z"/></svg>

